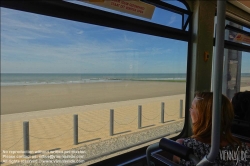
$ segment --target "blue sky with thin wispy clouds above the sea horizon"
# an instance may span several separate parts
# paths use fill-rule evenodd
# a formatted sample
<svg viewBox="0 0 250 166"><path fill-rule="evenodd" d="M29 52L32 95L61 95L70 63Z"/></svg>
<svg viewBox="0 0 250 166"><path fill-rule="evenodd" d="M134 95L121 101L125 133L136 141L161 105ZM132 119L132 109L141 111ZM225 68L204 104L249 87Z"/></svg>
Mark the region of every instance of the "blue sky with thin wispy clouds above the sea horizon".
<svg viewBox="0 0 250 166"><path fill-rule="evenodd" d="M181 25L161 9L147 21ZM1 8L1 73L185 73L186 62L187 42Z"/></svg>

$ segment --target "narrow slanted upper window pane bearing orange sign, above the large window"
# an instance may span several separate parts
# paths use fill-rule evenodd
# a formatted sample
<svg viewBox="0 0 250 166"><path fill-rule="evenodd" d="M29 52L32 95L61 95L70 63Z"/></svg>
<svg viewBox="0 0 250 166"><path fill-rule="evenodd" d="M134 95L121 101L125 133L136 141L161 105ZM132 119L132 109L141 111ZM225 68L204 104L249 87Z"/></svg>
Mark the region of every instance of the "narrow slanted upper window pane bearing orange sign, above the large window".
<svg viewBox="0 0 250 166"><path fill-rule="evenodd" d="M164 26L169 26L177 29L182 29L182 14L165 10L164 8L155 7L143 1L124 1L124 0L78 0L67 1L74 4L88 6L103 11L128 16ZM173 0L170 2L163 1L164 3L174 5L176 7L187 10L185 5L180 1ZM138 14L138 15L136 15Z"/></svg>

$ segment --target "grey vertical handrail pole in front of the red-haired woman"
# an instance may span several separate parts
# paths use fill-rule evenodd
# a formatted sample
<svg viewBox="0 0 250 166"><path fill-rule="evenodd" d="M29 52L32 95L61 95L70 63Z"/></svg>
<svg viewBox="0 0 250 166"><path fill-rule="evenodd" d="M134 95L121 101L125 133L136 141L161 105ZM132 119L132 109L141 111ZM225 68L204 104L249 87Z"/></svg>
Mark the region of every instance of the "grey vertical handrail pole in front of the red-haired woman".
<svg viewBox="0 0 250 166"><path fill-rule="evenodd" d="M214 162L219 153L220 145L220 119L221 119L221 94L222 94L222 72L224 56L225 37L225 13L226 1L217 0L217 26L215 55L213 57L213 111L212 111L212 135L211 150L197 165L209 165Z"/></svg>

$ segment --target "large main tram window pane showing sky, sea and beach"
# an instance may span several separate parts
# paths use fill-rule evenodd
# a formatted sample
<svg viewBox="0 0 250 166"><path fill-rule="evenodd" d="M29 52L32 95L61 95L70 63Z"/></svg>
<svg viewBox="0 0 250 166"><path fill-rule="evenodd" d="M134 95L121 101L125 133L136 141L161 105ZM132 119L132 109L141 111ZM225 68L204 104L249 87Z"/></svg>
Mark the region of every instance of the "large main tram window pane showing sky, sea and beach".
<svg viewBox="0 0 250 166"><path fill-rule="evenodd" d="M1 155L24 150L23 122L32 156L74 149L86 161L182 131L187 42L1 14Z"/></svg>

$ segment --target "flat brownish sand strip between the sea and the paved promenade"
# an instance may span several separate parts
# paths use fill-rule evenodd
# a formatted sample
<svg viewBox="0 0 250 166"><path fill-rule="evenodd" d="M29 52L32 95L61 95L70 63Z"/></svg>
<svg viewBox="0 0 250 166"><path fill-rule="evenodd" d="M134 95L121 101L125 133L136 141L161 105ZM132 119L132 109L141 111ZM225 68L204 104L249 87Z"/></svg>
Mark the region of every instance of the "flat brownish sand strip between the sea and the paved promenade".
<svg viewBox="0 0 250 166"><path fill-rule="evenodd" d="M1 115L185 93L185 82L103 82L1 87Z"/></svg>

